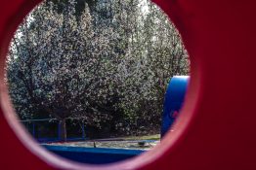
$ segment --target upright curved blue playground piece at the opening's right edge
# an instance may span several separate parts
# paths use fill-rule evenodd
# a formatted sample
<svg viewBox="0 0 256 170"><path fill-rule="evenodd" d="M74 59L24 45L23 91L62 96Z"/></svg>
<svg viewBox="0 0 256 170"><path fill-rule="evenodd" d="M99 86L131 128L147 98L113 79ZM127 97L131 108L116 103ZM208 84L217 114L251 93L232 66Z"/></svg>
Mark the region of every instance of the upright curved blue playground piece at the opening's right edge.
<svg viewBox="0 0 256 170"><path fill-rule="evenodd" d="M174 120L179 115L189 80L189 76L174 76L170 80L164 98L161 138L166 134Z"/></svg>

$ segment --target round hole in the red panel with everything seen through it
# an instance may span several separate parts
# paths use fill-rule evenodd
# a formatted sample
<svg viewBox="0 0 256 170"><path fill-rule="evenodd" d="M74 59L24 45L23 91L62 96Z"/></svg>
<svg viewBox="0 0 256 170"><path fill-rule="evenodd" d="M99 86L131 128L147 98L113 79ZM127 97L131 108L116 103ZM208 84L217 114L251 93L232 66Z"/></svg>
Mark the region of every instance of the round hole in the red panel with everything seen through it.
<svg viewBox="0 0 256 170"><path fill-rule="evenodd" d="M159 143L179 116L189 78L177 76L189 65L178 31L148 0L45 1L11 42L6 84L40 146L104 164Z"/></svg>

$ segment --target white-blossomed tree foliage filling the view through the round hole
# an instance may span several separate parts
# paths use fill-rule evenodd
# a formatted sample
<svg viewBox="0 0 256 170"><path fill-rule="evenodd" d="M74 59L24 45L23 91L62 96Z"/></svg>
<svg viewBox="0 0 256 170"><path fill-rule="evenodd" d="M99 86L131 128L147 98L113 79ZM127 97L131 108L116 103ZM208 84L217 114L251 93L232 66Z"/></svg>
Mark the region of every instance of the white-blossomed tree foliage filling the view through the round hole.
<svg viewBox="0 0 256 170"><path fill-rule="evenodd" d="M24 18L10 46L7 83L21 119L60 119L63 139L72 117L127 133L159 127L169 79L189 73L168 17L148 0L85 3L78 16L77 1L59 12L56 2Z"/></svg>

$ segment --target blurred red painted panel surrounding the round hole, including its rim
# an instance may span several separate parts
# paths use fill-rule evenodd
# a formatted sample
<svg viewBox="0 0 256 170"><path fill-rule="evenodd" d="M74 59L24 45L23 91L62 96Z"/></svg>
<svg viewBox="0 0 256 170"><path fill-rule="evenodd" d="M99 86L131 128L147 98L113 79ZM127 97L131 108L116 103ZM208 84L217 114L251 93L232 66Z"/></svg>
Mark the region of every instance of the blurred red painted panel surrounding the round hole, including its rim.
<svg viewBox="0 0 256 170"><path fill-rule="evenodd" d="M101 167L72 163L40 149L22 129L14 133L19 124L1 81L0 169L256 169L256 1L154 1L179 28L192 60L185 108L172 134L133 160ZM33 5L1 1L0 78L7 43Z"/></svg>

